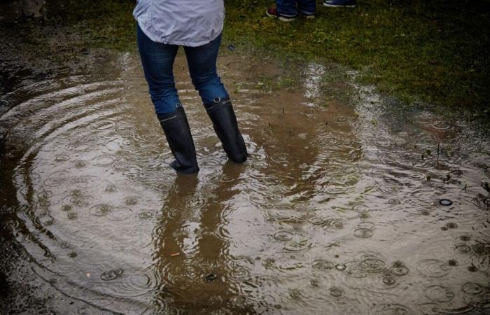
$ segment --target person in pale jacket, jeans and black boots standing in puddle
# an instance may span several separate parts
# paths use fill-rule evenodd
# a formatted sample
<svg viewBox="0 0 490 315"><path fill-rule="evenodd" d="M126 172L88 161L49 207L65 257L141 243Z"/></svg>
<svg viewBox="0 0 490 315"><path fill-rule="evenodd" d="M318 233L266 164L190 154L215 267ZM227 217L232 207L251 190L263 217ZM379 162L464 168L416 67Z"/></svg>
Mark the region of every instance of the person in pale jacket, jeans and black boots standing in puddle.
<svg viewBox="0 0 490 315"><path fill-rule="evenodd" d="M151 101L174 162L183 174L199 172L189 123L175 87L174 59L183 46L190 78L230 160L248 156L230 96L216 72L225 18L223 0L138 0L133 12Z"/></svg>

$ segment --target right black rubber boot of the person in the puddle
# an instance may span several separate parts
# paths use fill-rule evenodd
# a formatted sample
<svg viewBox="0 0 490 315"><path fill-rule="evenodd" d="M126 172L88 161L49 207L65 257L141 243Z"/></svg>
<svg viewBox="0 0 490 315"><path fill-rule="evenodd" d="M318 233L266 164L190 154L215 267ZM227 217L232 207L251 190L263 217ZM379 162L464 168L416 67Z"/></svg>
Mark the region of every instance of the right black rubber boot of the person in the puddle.
<svg viewBox="0 0 490 315"><path fill-rule="evenodd" d="M237 117L233 111L230 97L216 98L211 104L204 104L206 111L213 122L214 131L221 140L228 158L236 163L246 161L248 154L244 138L238 130Z"/></svg>

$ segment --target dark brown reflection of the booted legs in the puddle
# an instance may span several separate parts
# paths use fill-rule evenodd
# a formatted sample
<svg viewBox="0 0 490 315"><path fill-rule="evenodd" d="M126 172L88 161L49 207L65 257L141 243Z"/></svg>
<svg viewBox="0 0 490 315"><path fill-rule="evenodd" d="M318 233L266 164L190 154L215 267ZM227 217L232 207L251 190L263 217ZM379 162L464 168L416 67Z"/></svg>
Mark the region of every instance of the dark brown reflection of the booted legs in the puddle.
<svg viewBox="0 0 490 315"><path fill-rule="evenodd" d="M226 216L233 211L232 199L243 167L228 162L218 184L196 207L195 176L178 176L162 208L162 222L155 230L155 274L159 291L157 309L186 309L210 314L221 309L230 314L250 314L245 296L234 276L240 273L229 256L229 241L221 233ZM231 265L230 265L231 264ZM246 269L244 269L246 274Z"/></svg>

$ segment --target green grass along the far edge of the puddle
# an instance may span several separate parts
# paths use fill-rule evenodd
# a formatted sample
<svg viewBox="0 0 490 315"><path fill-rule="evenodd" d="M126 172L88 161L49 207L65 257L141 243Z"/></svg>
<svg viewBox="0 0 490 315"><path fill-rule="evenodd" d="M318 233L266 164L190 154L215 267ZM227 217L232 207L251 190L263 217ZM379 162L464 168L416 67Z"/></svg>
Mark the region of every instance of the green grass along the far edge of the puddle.
<svg viewBox="0 0 490 315"><path fill-rule="evenodd" d="M316 19L290 23L265 16L272 3L226 0L223 45L341 64L404 102L488 115L489 0L358 0L353 9L318 3ZM134 50L133 8L134 1L80 0L45 23L81 34L87 45Z"/></svg>

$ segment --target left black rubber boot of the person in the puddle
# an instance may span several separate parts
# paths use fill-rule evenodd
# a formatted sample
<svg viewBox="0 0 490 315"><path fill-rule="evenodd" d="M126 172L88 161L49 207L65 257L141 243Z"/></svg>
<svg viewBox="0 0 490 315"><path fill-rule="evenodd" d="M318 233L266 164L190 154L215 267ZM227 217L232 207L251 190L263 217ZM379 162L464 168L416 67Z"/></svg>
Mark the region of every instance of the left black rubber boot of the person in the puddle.
<svg viewBox="0 0 490 315"><path fill-rule="evenodd" d="M183 107L179 107L174 113L158 116L158 120L175 158L175 161L170 163L170 167L183 174L199 172L193 136L190 134Z"/></svg>

